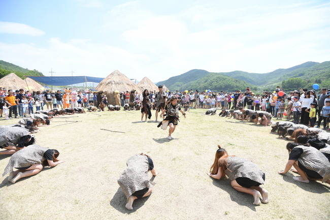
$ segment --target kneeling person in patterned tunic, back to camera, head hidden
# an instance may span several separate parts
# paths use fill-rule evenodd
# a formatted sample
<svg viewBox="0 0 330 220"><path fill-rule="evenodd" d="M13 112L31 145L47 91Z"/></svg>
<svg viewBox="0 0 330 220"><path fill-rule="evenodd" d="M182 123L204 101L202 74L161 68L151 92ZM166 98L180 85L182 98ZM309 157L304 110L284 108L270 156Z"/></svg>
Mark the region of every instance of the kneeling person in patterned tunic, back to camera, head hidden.
<svg viewBox="0 0 330 220"><path fill-rule="evenodd" d="M127 197L125 207L128 210L133 210L134 200L150 196L152 192L155 183L149 180L148 171L153 176L156 176L158 172L155 170L150 156L144 153L131 156L126 165L125 171L121 173L118 179L118 184Z"/></svg>

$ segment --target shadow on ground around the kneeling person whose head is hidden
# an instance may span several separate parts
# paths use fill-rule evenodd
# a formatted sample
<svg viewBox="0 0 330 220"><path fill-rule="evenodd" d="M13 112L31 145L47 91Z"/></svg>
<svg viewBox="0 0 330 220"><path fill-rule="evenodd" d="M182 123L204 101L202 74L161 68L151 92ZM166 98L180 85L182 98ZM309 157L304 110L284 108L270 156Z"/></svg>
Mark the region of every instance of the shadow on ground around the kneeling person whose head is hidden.
<svg viewBox="0 0 330 220"><path fill-rule="evenodd" d="M150 181L153 181L154 178L155 178L155 176L152 176ZM152 193L151 193L151 195L152 195ZM141 199L136 199L133 203L133 210L128 210L125 208L125 205L127 203L126 195L122 191L121 187L119 187L116 194L111 199L110 205L112 207L114 207L115 209L117 209L118 211L120 211L121 213L129 214L129 213L133 213L133 212L137 211L139 208L141 208L144 205L144 203L150 198L150 196L147 196L147 197L144 197Z"/></svg>

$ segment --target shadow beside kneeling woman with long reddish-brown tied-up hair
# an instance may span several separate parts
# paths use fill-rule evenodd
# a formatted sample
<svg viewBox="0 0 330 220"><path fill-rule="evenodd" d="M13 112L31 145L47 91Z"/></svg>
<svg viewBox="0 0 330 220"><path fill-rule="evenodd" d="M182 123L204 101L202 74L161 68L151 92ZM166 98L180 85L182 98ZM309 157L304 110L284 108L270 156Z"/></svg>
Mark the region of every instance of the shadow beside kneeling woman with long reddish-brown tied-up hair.
<svg viewBox="0 0 330 220"><path fill-rule="evenodd" d="M210 177L212 178L212 177ZM237 204L241 205L241 206L246 206L248 208L250 208L252 211L256 211L255 210L255 205L253 205L252 203L254 202L253 196L250 194L246 194L246 193L241 193L236 191L232 185L230 184L230 179L226 178L226 179L213 179L213 185L221 188L221 190L226 191L229 196L230 199L232 199L233 202L236 202ZM261 204L262 205L262 204Z"/></svg>

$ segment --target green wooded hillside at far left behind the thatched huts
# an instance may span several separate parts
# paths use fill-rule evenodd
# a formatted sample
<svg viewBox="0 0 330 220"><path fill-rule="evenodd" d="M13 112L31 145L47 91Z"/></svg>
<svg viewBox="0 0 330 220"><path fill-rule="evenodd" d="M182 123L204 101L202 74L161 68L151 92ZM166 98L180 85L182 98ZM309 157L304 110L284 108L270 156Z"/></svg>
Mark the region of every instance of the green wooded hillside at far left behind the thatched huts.
<svg viewBox="0 0 330 220"><path fill-rule="evenodd" d="M10 74L15 73L17 76L21 78L25 76L44 76L43 73L39 72L38 70L28 70L11 64L10 62L6 62L4 60L0 60L0 78Z"/></svg>

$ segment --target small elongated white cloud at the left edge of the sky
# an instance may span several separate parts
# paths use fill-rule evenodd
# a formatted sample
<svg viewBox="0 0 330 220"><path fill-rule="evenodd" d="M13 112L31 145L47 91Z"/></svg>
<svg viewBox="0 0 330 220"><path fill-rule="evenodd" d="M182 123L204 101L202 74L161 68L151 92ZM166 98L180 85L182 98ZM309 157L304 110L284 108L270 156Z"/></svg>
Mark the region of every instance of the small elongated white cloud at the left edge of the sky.
<svg viewBox="0 0 330 220"><path fill-rule="evenodd" d="M45 33L26 24L0 21L0 33L41 36Z"/></svg>

